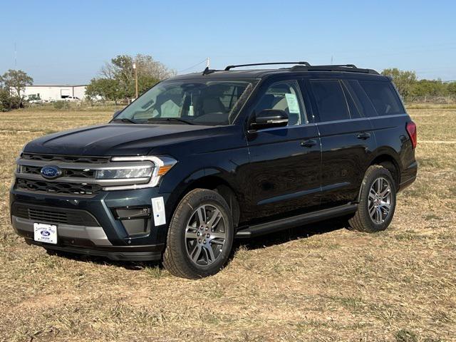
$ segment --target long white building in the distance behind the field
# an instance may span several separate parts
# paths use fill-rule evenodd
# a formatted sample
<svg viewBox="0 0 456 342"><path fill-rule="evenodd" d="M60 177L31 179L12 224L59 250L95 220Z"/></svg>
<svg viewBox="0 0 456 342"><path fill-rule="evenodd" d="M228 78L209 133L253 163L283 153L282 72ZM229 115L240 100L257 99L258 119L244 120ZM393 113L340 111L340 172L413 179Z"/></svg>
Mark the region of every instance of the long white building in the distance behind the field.
<svg viewBox="0 0 456 342"><path fill-rule="evenodd" d="M87 85L33 84L33 86L26 86L24 89L24 98L26 100L58 101L73 97L83 100L86 96L86 87Z"/></svg>

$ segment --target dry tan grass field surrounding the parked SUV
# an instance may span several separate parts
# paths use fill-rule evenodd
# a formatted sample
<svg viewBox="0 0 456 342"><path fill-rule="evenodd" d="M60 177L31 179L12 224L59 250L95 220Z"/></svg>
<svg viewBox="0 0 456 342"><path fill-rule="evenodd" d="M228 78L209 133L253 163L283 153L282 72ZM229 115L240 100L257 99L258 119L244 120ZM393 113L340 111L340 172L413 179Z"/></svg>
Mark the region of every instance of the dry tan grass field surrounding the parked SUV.
<svg viewBox="0 0 456 342"><path fill-rule="evenodd" d="M419 177L390 229L323 222L238 242L224 271L197 281L16 237L8 191L22 145L111 113L0 113L0 341L456 341L456 109L409 113Z"/></svg>

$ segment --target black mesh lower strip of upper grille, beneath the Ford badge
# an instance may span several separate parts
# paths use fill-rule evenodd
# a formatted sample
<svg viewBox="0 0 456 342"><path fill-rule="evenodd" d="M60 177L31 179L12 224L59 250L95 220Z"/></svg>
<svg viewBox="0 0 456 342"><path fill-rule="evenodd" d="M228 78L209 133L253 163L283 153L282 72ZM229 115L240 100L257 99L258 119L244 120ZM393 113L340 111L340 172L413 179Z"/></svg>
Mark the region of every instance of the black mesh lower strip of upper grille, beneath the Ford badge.
<svg viewBox="0 0 456 342"><path fill-rule="evenodd" d="M102 190L100 185L96 184L83 185L64 182L46 182L43 180L26 180L23 178L18 178L16 180L16 188L63 195L96 195Z"/></svg>

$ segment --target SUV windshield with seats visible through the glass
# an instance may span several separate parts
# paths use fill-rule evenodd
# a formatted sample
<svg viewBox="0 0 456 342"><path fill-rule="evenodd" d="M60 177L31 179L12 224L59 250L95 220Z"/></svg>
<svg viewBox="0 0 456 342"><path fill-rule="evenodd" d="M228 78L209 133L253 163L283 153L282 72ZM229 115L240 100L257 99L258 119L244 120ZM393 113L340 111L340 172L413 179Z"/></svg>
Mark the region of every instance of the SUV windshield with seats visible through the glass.
<svg viewBox="0 0 456 342"><path fill-rule="evenodd" d="M228 125L257 81L164 81L141 95L114 121Z"/></svg>

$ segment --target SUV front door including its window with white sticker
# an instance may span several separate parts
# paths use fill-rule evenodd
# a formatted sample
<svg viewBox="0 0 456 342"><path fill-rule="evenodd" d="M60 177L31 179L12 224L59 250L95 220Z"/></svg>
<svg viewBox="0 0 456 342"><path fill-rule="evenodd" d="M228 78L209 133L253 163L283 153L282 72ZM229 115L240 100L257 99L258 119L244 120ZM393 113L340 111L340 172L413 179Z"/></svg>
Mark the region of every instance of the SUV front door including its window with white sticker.
<svg viewBox="0 0 456 342"><path fill-rule="evenodd" d="M284 110L289 123L247 133L251 218L279 218L317 209L321 143L316 125L306 115L299 83L277 81L263 89L252 115L266 109Z"/></svg>

